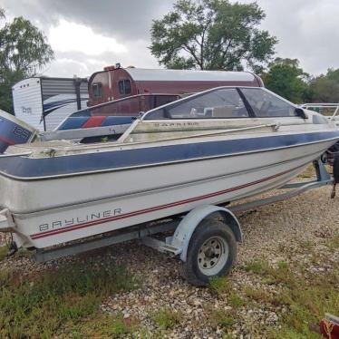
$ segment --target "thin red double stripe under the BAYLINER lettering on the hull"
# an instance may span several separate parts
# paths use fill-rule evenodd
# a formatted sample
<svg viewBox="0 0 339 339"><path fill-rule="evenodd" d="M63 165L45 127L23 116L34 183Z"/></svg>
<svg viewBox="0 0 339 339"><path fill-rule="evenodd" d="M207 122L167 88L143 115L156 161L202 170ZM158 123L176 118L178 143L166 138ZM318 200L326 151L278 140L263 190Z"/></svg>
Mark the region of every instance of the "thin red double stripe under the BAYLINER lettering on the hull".
<svg viewBox="0 0 339 339"><path fill-rule="evenodd" d="M179 200L179 201L176 201L176 202L171 202L169 204L160 205L160 206L156 206L156 207L153 207L153 208L145 208L145 209L140 209L140 210L137 210L137 211L134 211L134 212L126 213L126 214L121 214L119 216L114 216L114 217L110 217L110 218L102 218L102 219L95 220L95 221L85 222L85 223L82 223L82 224L74 225L74 226L69 227L69 228L52 229L50 231L44 231L44 232L41 232L41 233L36 233L36 234L32 235L31 238L35 240L35 239L39 239L39 238L42 238L42 237L50 237L50 236L60 234L60 233L64 233L64 232L71 232L71 231L76 230L76 229L88 228L90 226L95 226L95 225L98 225L98 224L103 224L103 223L107 223L107 222L111 222L111 221L115 221L115 220L120 220L120 219L123 219L123 218L136 217L136 216L139 216L141 214L156 212L158 210L165 209L165 208L172 208L172 207L176 207L176 206L179 206L179 205L188 204L190 202L195 202L195 201L199 201L199 200L203 200L203 199L217 197L219 195L223 195L223 194L228 193L228 192L232 192L232 191L235 191L235 190L238 190L238 189L245 189L249 186L257 185L261 182L265 182L267 180L274 179L276 177L280 177L280 176L288 173L289 171L290 170L287 170L285 172L276 174L276 175L271 176L271 177L267 177L265 179L259 179L259 180L256 180L256 181L253 181L253 182L250 182L250 183L247 183L247 184L239 185L235 188L223 189L223 190L219 190L219 191L214 192L214 193L205 194L203 196L199 196L199 197L195 197L195 198Z"/></svg>

